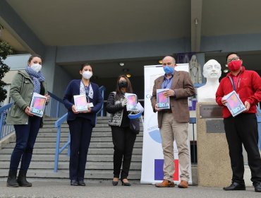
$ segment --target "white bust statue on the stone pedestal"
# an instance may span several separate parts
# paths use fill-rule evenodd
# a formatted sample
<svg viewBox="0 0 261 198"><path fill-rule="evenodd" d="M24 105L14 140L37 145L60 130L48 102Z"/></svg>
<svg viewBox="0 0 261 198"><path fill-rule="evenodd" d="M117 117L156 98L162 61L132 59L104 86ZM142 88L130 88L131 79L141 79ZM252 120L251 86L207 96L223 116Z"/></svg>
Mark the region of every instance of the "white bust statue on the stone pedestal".
<svg viewBox="0 0 261 198"><path fill-rule="evenodd" d="M207 78L205 86L198 88L198 102L216 102L216 92L221 76L221 65L214 59L209 60L203 67L203 76Z"/></svg>

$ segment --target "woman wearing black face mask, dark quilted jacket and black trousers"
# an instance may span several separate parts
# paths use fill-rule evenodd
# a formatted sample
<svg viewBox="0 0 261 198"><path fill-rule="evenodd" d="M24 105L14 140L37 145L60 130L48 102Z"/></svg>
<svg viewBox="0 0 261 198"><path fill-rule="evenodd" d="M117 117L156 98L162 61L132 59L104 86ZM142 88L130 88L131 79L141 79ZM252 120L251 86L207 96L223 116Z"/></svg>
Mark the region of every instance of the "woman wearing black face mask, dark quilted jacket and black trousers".
<svg viewBox="0 0 261 198"><path fill-rule="evenodd" d="M130 186L127 177L136 139L136 134L130 129L125 93L133 93L133 88L130 80L121 75L117 80L116 92L111 92L107 100L107 112L111 114L109 126L111 126L114 143L114 179L112 180L114 186L118 185L120 173L122 185Z"/></svg>

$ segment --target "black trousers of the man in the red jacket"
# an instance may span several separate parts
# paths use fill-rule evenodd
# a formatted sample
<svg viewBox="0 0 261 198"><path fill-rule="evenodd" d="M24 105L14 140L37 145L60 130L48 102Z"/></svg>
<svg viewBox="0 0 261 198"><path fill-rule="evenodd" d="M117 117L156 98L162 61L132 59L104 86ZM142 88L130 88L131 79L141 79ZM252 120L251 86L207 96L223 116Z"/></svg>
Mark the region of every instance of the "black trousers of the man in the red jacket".
<svg viewBox="0 0 261 198"><path fill-rule="evenodd" d="M229 156L233 172L232 182L245 184L243 180L244 162L243 148L248 153L248 165L251 170L251 181L253 185L261 182L261 158L258 142L257 117L255 114L242 113L236 117L224 119L226 140L229 144Z"/></svg>

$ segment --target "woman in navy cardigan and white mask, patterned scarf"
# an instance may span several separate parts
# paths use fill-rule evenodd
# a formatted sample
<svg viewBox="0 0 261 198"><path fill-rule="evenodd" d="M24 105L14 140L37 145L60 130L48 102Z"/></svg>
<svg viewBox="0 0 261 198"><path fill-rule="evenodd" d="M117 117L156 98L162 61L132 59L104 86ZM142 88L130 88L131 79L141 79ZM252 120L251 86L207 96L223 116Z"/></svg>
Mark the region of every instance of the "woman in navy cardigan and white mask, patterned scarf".
<svg viewBox="0 0 261 198"><path fill-rule="evenodd" d="M95 127L96 113L103 103L99 86L90 81L92 66L83 64L80 75L80 79L74 79L68 84L63 97L63 103L68 109L67 123L71 135L69 172L73 186L85 186L85 165L92 129ZM74 95L85 95L89 104L87 111L76 111Z"/></svg>

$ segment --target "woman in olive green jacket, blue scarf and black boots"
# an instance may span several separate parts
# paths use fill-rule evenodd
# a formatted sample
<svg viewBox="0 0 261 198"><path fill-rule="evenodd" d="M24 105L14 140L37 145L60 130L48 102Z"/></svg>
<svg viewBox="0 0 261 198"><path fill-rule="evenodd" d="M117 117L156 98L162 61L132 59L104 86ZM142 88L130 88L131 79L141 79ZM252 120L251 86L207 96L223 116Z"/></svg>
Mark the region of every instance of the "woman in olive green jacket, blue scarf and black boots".
<svg viewBox="0 0 261 198"><path fill-rule="evenodd" d="M42 58L39 55L32 55L25 71L18 71L11 84L10 96L14 103L6 122L13 124L16 130L16 146L11 155L6 184L8 187L32 186L32 183L26 180L26 173L32 159L32 149L42 118L30 113L30 102L34 92L45 95L47 102L49 101L41 69ZM20 171L16 180L19 163Z"/></svg>

